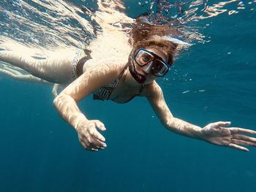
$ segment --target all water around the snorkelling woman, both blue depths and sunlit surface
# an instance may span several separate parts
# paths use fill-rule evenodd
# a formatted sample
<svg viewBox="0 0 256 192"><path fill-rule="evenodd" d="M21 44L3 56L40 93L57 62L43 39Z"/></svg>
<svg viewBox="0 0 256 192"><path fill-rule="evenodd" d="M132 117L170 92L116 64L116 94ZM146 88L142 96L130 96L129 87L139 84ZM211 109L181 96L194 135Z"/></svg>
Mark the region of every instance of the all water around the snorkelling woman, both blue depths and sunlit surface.
<svg viewBox="0 0 256 192"><path fill-rule="evenodd" d="M99 132L108 147L86 150L53 104L69 83L1 59L10 50L41 61L69 59L79 49L102 63L127 62L129 32L141 17L177 32L170 38L178 54L156 80L174 117L200 128L230 121L256 131L256 1L2 0L0 191L255 190L255 147L238 143L244 152L176 134L142 96L125 104L93 94L79 101L80 111L106 128Z"/></svg>

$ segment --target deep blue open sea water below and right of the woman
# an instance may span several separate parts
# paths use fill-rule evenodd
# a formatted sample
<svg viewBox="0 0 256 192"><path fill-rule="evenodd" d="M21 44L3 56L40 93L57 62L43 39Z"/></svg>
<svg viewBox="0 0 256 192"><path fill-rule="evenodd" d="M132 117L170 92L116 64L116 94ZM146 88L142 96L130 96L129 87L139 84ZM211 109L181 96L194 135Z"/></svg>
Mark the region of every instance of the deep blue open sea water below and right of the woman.
<svg viewBox="0 0 256 192"><path fill-rule="evenodd" d="M134 1L127 4L128 14L141 13ZM255 20L252 1L238 14L197 22L210 42L195 43L159 80L173 115L202 127L230 120L256 130ZM146 99L83 99L81 110L107 128L108 147L91 153L59 118L49 86L3 75L0 85L0 191L255 190L255 148L244 153L173 134Z"/></svg>

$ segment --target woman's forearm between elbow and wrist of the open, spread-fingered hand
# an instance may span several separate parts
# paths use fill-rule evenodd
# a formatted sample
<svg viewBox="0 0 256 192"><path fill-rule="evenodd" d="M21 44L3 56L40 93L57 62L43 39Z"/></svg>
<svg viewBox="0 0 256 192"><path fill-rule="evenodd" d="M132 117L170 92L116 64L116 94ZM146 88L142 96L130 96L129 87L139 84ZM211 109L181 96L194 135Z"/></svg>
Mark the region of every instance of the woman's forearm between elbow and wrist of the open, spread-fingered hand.
<svg viewBox="0 0 256 192"><path fill-rule="evenodd" d="M181 134L195 139L202 139L202 128L191 123L187 123L186 121L178 118L170 118L170 120L165 123L165 127L170 131L175 132L176 134Z"/></svg>

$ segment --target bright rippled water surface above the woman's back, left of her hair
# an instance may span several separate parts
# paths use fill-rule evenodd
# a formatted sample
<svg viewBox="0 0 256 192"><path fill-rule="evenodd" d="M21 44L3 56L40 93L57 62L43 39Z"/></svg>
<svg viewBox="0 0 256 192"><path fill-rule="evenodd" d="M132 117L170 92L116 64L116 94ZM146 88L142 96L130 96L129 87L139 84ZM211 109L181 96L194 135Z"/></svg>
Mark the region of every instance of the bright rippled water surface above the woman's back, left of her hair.
<svg viewBox="0 0 256 192"><path fill-rule="evenodd" d="M92 58L124 58L129 52L125 23L133 20L118 11L124 9L119 1L97 1L95 10L61 0L4 1L0 7L1 50L46 58L83 48Z"/></svg>

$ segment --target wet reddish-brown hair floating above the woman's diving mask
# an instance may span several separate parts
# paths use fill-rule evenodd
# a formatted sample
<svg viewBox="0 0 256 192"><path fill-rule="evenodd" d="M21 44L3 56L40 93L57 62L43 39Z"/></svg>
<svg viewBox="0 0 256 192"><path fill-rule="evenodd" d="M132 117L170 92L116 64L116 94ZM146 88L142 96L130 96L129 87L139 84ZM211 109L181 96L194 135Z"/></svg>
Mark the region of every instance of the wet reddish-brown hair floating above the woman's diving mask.
<svg viewBox="0 0 256 192"><path fill-rule="evenodd" d="M145 17L140 17L135 20L129 31L129 43L133 50L146 47L156 47L164 50L168 56L168 63L173 64L173 57L177 53L177 44L166 39L157 37L176 37L178 30L175 27L167 25L154 25L143 21Z"/></svg>

